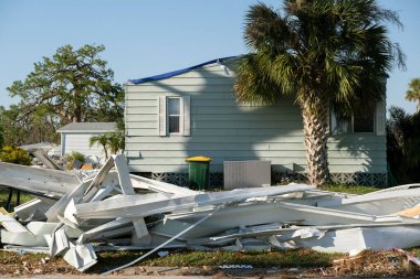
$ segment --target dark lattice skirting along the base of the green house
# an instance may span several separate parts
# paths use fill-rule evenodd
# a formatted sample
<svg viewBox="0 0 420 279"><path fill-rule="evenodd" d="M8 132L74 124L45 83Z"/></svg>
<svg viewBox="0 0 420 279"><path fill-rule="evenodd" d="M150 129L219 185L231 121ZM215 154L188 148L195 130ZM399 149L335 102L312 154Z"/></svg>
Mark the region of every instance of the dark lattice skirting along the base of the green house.
<svg viewBox="0 0 420 279"><path fill-rule="evenodd" d="M151 179L158 181L165 181L179 186L188 186L188 173L151 173ZM345 184L345 185L368 185L368 186L387 186L386 173L330 173L329 179L332 183ZM306 175L304 173L282 173L272 172L272 184L287 184L290 182L306 182ZM222 187L223 186L223 173L213 172L210 173L210 186Z"/></svg>

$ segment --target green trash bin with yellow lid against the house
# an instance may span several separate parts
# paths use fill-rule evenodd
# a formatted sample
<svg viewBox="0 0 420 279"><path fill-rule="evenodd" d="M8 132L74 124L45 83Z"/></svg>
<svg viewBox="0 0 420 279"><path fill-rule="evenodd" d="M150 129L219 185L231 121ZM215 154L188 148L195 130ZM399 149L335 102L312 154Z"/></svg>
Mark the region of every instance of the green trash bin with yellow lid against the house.
<svg viewBox="0 0 420 279"><path fill-rule="evenodd" d="M190 157L187 158L186 161L189 163L189 187L196 190L207 190L209 187L211 158L202 155Z"/></svg>

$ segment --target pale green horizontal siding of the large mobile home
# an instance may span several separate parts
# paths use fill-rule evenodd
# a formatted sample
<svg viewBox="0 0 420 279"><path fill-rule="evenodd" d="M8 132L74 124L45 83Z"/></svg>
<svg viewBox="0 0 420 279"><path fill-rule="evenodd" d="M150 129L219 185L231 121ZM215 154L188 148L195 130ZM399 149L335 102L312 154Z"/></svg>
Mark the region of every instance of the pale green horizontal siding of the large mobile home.
<svg viewBox="0 0 420 279"><path fill-rule="evenodd" d="M270 160L275 171L305 172L306 155L298 106L238 105L234 73L208 65L167 79L126 85L126 155L132 172L187 172L185 159L207 155L211 172L227 160ZM190 96L191 136L159 137L159 96ZM384 111L385 116L385 111ZM385 136L340 135L328 142L335 173L386 172Z"/></svg>

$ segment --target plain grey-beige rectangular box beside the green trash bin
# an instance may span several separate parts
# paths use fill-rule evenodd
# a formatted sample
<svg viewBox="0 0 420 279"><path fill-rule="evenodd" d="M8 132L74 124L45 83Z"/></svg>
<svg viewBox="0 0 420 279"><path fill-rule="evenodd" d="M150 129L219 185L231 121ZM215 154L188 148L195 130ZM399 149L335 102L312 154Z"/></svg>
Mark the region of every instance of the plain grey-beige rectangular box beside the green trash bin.
<svg viewBox="0 0 420 279"><path fill-rule="evenodd" d="M271 161L224 161L224 189L271 185Z"/></svg>

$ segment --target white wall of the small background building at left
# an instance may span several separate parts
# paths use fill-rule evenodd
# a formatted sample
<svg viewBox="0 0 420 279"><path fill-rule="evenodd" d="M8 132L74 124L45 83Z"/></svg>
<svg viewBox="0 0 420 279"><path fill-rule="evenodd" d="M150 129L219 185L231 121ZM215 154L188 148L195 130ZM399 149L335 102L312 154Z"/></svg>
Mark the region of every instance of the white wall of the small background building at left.
<svg viewBox="0 0 420 279"><path fill-rule="evenodd" d="M81 152L84 155L97 155L98 158L105 158L105 153L103 151L102 147L97 147L96 144L92 146L90 148L90 138L93 136L98 136L102 133L86 133L86 132L72 132L72 133L66 133L62 132L62 142L63 144L63 153L64 154L70 154L73 151Z"/></svg>

